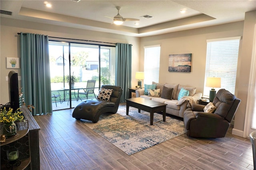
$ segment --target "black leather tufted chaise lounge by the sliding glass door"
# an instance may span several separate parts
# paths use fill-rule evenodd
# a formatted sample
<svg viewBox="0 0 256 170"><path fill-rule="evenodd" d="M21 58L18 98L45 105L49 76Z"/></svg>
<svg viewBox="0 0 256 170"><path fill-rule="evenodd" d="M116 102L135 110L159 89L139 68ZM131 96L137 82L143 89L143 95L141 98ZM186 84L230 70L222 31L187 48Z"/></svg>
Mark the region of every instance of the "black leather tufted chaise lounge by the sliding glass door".
<svg viewBox="0 0 256 170"><path fill-rule="evenodd" d="M113 85L102 85L101 88L113 89L109 101L100 99L82 101L75 107L72 117L96 123L103 113L116 113L122 96L122 88Z"/></svg>

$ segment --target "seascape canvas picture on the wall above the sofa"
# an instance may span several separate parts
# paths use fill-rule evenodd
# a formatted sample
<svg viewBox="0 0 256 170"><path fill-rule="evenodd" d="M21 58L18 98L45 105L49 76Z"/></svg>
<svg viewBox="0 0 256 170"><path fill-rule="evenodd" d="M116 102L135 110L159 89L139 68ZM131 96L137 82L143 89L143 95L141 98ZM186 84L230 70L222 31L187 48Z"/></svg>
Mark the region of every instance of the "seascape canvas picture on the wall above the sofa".
<svg viewBox="0 0 256 170"><path fill-rule="evenodd" d="M188 54L170 54L169 72L191 72L192 53Z"/></svg>

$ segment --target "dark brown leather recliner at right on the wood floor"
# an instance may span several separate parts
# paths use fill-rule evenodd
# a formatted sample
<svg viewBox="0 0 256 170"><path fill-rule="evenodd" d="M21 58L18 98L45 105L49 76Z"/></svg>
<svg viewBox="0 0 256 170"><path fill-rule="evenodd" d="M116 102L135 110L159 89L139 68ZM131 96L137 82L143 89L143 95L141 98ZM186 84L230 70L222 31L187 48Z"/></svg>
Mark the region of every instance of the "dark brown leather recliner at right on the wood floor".
<svg viewBox="0 0 256 170"><path fill-rule="evenodd" d="M229 91L220 89L212 101L217 108L214 113L205 113L204 105L193 104L184 112L185 132L191 137L222 138L230 126L240 104Z"/></svg>

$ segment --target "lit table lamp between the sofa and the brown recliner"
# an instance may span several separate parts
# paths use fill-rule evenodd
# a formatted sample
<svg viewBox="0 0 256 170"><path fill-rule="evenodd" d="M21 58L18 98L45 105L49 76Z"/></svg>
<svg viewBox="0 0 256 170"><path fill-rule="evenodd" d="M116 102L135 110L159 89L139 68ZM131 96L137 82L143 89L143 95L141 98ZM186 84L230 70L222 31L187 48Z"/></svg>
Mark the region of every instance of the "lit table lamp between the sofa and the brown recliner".
<svg viewBox="0 0 256 170"><path fill-rule="evenodd" d="M221 87L220 80L221 80L220 77L207 77L206 79L206 87L212 87L212 89L210 90L210 96L209 96L210 101L213 101L214 97L216 96L216 91L214 88Z"/></svg>

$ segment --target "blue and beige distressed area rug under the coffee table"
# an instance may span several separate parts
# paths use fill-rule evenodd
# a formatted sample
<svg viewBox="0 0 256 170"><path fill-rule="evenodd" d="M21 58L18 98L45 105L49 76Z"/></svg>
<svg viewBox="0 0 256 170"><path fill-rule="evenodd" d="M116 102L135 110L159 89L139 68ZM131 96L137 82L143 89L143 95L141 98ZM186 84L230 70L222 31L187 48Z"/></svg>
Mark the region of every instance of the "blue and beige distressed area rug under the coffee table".
<svg viewBox="0 0 256 170"><path fill-rule="evenodd" d="M126 105L119 106L116 114L101 115L97 123L83 122L128 155L185 133L183 121L166 117L166 122L163 122L163 116L154 113L151 126L150 113L138 113L138 109L130 107L127 116Z"/></svg>

